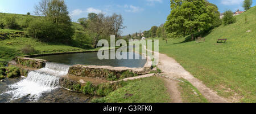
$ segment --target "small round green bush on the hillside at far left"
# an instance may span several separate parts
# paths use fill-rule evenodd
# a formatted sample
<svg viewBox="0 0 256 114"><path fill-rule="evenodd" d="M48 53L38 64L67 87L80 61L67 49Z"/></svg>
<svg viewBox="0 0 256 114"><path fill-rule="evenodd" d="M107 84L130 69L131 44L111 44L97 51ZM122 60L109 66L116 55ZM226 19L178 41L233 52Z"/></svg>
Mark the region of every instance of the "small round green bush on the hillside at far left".
<svg viewBox="0 0 256 114"><path fill-rule="evenodd" d="M16 29L19 28L19 25L16 23L15 16L6 16L5 17L5 27L9 29Z"/></svg>

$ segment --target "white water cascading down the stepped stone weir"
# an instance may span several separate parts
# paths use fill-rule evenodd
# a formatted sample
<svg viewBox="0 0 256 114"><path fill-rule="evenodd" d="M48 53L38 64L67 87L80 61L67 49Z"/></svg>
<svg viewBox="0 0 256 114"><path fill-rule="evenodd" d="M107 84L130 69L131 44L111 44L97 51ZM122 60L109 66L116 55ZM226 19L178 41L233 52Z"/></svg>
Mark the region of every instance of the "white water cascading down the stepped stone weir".
<svg viewBox="0 0 256 114"><path fill-rule="evenodd" d="M59 88L60 76L67 74L68 69L68 65L47 62L45 68L30 71L27 78L10 85L5 93L12 95L11 100L28 97L36 101L43 93Z"/></svg>

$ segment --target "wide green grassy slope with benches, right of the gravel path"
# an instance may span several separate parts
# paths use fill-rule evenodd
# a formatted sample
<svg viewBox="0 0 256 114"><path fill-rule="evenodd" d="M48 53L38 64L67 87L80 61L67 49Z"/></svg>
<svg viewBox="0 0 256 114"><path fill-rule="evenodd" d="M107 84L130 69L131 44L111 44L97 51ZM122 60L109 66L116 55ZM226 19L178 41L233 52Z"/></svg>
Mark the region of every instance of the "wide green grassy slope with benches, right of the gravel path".
<svg viewBox="0 0 256 114"><path fill-rule="evenodd" d="M236 102L256 102L256 7L236 17L236 23L213 29L204 43L184 42L186 38L166 43L159 38L159 51L176 59L219 95ZM218 38L228 42L215 45Z"/></svg>

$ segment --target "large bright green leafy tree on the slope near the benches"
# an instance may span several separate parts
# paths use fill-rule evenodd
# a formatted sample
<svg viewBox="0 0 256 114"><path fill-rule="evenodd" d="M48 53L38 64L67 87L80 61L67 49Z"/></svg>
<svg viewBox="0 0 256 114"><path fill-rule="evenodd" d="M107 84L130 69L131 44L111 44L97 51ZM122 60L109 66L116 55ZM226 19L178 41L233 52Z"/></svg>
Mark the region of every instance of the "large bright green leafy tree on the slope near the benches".
<svg viewBox="0 0 256 114"><path fill-rule="evenodd" d="M207 30L220 23L220 12L216 5L205 0L171 0L171 14L164 25L168 36L184 37L200 30Z"/></svg>

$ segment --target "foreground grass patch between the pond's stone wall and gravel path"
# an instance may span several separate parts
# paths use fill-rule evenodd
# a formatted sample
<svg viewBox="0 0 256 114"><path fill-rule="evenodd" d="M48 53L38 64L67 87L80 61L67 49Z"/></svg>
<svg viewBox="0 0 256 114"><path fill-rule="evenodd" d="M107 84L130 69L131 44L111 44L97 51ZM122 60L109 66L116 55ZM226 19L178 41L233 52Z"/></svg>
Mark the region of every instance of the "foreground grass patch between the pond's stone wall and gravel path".
<svg viewBox="0 0 256 114"><path fill-rule="evenodd" d="M154 76L128 81L126 86L97 101L107 103L166 103L171 102L171 99L164 86L164 81Z"/></svg>

